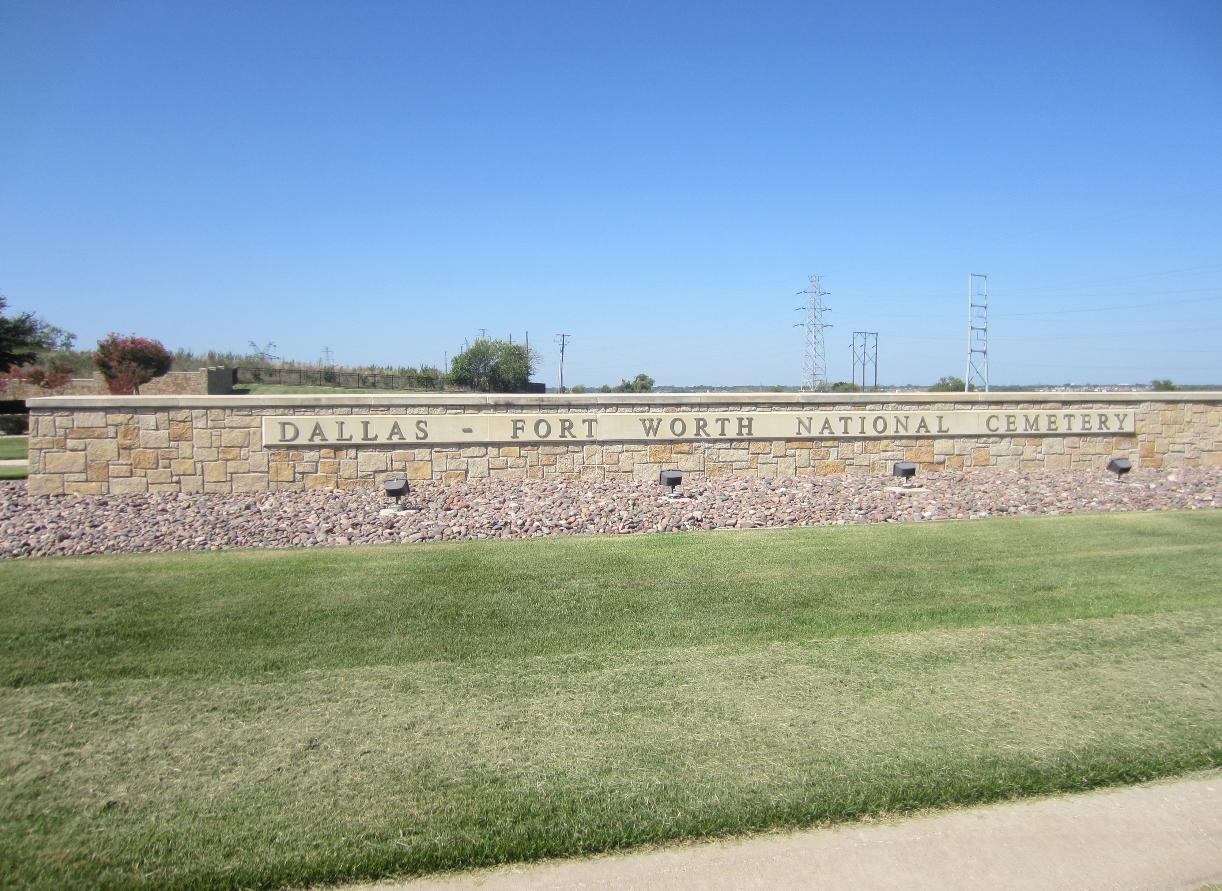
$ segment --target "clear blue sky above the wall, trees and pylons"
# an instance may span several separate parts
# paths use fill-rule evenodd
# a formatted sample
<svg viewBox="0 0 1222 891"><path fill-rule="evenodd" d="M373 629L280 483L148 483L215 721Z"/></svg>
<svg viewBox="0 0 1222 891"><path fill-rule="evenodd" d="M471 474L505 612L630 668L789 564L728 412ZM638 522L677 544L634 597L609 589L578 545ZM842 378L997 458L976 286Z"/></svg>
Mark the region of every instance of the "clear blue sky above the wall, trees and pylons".
<svg viewBox="0 0 1222 891"><path fill-rule="evenodd" d="M1222 5L0 5L0 292L90 345L555 385L1222 381ZM1128 307L1117 309L1116 307Z"/></svg>

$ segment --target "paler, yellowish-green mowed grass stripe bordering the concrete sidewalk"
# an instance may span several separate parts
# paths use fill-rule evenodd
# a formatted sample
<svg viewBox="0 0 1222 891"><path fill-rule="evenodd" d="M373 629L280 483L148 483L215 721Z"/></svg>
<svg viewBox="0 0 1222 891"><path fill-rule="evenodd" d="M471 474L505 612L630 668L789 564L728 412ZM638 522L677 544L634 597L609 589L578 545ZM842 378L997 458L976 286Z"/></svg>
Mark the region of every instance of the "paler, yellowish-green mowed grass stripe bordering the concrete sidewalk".
<svg viewBox="0 0 1222 891"><path fill-rule="evenodd" d="M1210 768L1220 618L7 688L0 870L297 886Z"/></svg>

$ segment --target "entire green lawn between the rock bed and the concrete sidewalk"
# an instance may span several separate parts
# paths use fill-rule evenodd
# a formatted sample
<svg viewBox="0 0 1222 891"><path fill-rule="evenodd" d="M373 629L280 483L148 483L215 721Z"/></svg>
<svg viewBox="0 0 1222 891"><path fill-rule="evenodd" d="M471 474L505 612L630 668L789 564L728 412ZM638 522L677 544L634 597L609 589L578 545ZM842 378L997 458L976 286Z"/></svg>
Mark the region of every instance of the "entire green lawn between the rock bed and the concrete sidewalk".
<svg viewBox="0 0 1222 891"><path fill-rule="evenodd" d="M1222 512L0 565L0 875L277 887L1222 758Z"/></svg>

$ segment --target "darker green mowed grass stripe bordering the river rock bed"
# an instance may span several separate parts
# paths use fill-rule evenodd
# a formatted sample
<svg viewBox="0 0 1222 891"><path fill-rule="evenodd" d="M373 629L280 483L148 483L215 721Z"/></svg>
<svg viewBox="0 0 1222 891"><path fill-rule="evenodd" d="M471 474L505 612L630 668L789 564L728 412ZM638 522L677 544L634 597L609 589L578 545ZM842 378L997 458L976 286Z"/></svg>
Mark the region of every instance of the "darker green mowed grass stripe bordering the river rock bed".
<svg viewBox="0 0 1222 891"><path fill-rule="evenodd" d="M0 683L240 677L1194 610L1222 512L0 563Z"/></svg>

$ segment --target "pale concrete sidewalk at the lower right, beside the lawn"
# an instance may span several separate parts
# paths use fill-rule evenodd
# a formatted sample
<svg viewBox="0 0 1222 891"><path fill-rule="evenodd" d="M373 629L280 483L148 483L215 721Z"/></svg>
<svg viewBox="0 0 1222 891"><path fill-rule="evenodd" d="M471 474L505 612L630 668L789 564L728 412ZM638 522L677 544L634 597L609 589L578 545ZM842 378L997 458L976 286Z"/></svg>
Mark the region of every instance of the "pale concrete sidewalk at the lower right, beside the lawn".
<svg viewBox="0 0 1222 891"><path fill-rule="evenodd" d="M892 824L505 867L379 891L1196 889L1222 878L1222 775Z"/></svg>

